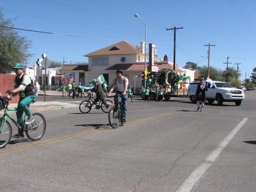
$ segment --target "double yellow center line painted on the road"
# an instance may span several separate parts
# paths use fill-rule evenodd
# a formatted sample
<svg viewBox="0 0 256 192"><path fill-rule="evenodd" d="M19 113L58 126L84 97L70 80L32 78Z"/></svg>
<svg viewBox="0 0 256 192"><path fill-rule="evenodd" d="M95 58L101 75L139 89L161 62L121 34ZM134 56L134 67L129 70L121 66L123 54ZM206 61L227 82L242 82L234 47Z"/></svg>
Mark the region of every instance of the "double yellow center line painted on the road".
<svg viewBox="0 0 256 192"><path fill-rule="evenodd" d="M137 122L142 122L142 121L145 121L145 120L150 120L150 119L153 119L153 118L158 118L158 117L166 116L166 115L170 115L170 114L171 113L162 113L162 114L158 114L158 115L155 115L155 116L145 117L145 118L141 118L141 119L137 119L137 120L127 122L125 125L134 124L134 123L137 123ZM106 129L106 128L110 128L110 126L109 127L104 126L104 129ZM38 146L43 146L43 145L46 145L46 144L52 144L52 143L56 143L56 142L59 142L59 141L72 139L72 138L79 137L79 136L84 136L84 135L87 135L87 134L100 132L104 129L87 130L87 131L79 132L79 133L76 133L76 134L61 136L61 137L58 137L58 138L48 139L48 140L39 141L39 142L33 142L31 144L25 144L25 145L22 145L22 146L18 146L18 147L6 149L6 150L0 150L0 156L4 156L4 155L10 154L10 153L20 152L20 151L23 151L23 150L35 148L35 147L38 147Z"/></svg>

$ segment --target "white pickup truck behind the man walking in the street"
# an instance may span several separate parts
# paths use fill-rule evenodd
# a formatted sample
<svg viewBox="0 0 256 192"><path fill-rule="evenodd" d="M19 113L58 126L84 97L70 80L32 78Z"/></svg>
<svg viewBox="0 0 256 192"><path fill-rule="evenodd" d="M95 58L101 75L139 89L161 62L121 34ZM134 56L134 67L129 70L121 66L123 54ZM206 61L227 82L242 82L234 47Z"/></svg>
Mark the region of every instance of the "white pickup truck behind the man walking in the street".
<svg viewBox="0 0 256 192"><path fill-rule="evenodd" d="M218 105L222 105L223 102L235 102L236 106L240 106L244 99L244 91L233 88L226 82L214 81L215 87L210 88L208 84L208 91L205 92L205 98L209 103L213 103L215 100ZM192 82L188 86L188 96L191 102L196 102L196 89L200 82Z"/></svg>

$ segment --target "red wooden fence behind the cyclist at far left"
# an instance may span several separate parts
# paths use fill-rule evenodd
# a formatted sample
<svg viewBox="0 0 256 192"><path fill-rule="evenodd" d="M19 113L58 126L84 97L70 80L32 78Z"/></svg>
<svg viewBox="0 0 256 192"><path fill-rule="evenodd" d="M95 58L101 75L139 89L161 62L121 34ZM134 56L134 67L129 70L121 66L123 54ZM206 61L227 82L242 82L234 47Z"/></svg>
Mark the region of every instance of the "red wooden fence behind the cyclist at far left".
<svg viewBox="0 0 256 192"><path fill-rule="evenodd" d="M0 74L0 93L2 96L6 96L5 93L6 90L13 90L14 88L14 78L16 75L10 75L10 74ZM19 96L15 96L13 100L10 101L10 103L18 103Z"/></svg>

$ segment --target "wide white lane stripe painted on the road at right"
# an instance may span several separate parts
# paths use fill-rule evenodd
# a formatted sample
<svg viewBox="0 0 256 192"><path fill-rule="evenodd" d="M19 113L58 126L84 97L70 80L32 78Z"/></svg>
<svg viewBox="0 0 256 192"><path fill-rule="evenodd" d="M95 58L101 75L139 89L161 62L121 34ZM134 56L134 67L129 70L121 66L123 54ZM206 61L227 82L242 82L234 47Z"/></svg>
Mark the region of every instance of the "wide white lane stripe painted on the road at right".
<svg viewBox="0 0 256 192"><path fill-rule="evenodd" d="M228 145L230 140L236 135L240 128L248 118L244 118L227 136L224 138L218 146L208 155L208 157L188 176L185 182L180 186L177 192L190 192L192 188L199 182L200 178L205 174L208 168L212 165L214 160L218 158L220 153Z"/></svg>

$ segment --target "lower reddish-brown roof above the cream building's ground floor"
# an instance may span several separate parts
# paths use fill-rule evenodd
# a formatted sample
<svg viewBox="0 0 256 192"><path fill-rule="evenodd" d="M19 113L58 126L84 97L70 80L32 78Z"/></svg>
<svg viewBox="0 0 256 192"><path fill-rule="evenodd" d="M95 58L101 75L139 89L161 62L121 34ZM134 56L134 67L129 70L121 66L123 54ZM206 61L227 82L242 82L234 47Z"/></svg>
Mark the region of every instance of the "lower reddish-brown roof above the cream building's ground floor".
<svg viewBox="0 0 256 192"><path fill-rule="evenodd" d="M146 64L147 68L148 68L148 64ZM158 69L163 69L163 68L170 68L170 69L173 69L173 64L172 63L155 63L154 66L158 67ZM134 64L115 64L107 69L105 69L106 71L115 71L115 70L118 70L118 69L121 69L121 70L124 70L124 71L141 71L141 70L144 70L145 69L145 64L137 64L137 63L134 63ZM179 72L184 72L181 68L177 67L176 66L176 71L179 71Z"/></svg>

